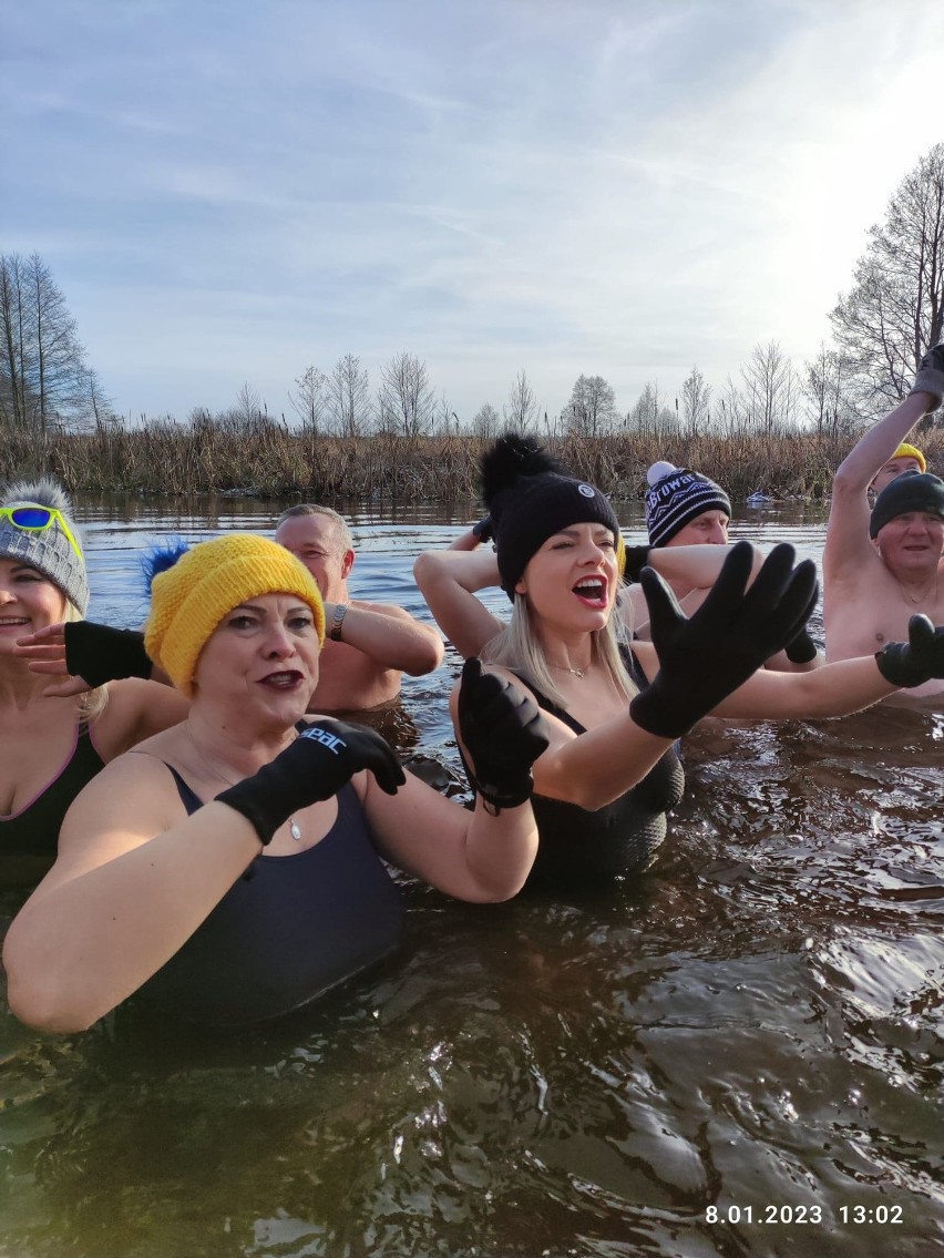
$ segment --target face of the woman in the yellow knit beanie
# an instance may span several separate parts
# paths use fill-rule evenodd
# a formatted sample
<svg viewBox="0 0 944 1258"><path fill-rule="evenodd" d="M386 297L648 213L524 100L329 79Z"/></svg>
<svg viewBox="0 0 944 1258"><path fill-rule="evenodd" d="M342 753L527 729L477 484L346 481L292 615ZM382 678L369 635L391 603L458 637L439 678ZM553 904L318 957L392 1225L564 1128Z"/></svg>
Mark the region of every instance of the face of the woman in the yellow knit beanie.
<svg viewBox="0 0 944 1258"><path fill-rule="evenodd" d="M318 632L295 594L260 594L229 611L200 653L197 699L239 703L246 720L298 721L318 684Z"/></svg>

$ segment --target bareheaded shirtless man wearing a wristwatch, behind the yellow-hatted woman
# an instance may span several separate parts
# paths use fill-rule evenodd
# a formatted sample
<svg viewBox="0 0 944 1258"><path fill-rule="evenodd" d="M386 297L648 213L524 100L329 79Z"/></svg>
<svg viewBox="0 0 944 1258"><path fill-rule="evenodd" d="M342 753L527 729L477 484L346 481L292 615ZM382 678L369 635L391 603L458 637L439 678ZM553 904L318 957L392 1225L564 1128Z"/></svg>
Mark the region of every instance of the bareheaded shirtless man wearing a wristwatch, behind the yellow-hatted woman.
<svg viewBox="0 0 944 1258"><path fill-rule="evenodd" d="M300 503L279 517L275 541L302 560L324 599L326 639L312 712L367 711L400 694L403 673L422 677L442 663L442 639L392 603L352 599L351 531L329 507Z"/></svg>

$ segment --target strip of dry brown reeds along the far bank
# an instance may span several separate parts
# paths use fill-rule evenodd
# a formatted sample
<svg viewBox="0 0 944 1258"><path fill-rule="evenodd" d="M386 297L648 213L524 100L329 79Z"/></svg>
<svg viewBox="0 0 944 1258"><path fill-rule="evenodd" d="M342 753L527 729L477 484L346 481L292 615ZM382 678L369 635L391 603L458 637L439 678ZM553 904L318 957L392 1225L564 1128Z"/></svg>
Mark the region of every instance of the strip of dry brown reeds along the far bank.
<svg viewBox="0 0 944 1258"><path fill-rule="evenodd" d="M851 440L804 433L720 435L573 434L535 429L574 476L615 498L639 498L656 459L694 468L724 486L733 501L828 497L832 473ZM944 431L913 437L931 467L944 467ZM377 498L450 503L475 498L485 442L468 434L403 438L334 437L293 429L265 416L244 424L170 420L93 433L6 434L0 477L50 473L68 489L143 494L235 493L308 499Z"/></svg>

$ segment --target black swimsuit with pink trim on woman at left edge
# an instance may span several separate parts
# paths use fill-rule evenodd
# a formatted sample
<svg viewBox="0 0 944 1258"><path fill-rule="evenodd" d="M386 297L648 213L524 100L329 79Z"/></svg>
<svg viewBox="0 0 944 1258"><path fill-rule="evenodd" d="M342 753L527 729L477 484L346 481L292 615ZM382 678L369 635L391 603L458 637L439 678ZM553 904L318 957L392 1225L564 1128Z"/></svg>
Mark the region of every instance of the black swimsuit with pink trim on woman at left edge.
<svg viewBox="0 0 944 1258"><path fill-rule="evenodd" d="M72 755L25 808L0 816L0 887L30 887L52 869L59 830L83 786L104 769L88 726L79 723Z"/></svg>

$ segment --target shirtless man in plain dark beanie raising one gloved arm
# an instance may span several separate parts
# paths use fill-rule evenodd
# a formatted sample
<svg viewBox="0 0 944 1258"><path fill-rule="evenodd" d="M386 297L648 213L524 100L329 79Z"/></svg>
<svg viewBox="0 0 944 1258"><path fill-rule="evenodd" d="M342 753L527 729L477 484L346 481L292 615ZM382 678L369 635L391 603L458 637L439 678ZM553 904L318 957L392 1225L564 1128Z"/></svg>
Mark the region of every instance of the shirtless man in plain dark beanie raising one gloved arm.
<svg viewBox="0 0 944 1258"><path fill-rule="evenodd" d="M848 659L908 638L915 613L944 623L944 481L897 457L911 428L944 398L944 345L921 359L911 392L840 465L823 551L827 659ZM914 448L910 448L914 450ZM895 464L904 468L895 468ZM889 473L895 473L889 479ZM881 492L871 513L869 487ZM884 488L882 488L884 483ZM896 696L944 708L944 682Z"/></svg>

